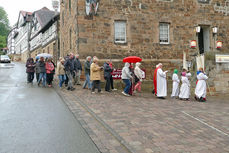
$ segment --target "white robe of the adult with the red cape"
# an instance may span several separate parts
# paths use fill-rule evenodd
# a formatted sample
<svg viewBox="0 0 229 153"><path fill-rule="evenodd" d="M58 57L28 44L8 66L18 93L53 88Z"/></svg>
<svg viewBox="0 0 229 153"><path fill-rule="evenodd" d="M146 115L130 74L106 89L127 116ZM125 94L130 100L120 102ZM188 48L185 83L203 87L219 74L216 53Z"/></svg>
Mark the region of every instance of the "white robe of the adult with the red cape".
<svg viewBox="0 0 229 153"><path fill-rule="evenodd" d="M163 72L162 69L157 70L157 97L166 97L167 96L167 81L166 81L166 72Z"/></svg>

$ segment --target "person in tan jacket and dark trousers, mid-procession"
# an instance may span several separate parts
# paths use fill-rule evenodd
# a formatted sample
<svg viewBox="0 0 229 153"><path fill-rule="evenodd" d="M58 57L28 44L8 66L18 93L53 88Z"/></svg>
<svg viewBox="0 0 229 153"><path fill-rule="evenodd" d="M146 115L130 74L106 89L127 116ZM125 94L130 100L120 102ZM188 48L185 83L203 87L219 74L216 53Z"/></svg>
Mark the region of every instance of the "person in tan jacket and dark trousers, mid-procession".
<svg viewBox="0 0 229 153"><path fill-rule="evenodd" d="M97 57L93 58L93 63L90 67L90 79L92 81L92 93L95 93L95 88L98 89L98 93L101 93L101 87L100 87L100 80L101 80L101 74L100 72L103 70L103 67L100 67L98 65L99 59Z"/></svg>

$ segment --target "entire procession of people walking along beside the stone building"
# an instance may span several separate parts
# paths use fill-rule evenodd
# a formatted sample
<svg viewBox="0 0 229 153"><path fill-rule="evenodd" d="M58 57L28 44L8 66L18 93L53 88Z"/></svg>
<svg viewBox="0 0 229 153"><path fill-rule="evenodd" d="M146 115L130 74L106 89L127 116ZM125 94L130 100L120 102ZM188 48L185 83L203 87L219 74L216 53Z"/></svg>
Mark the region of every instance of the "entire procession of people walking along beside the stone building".
<svg viewBox="0 0 229 153"><path fill-rule="evenodd" d="M104 63L103 66L99 66L99 59L94 56L88 56L84 63L84 73L85 81L83 83L83 89L88 88L92 93L95 93L95 89L98 90L98 93L101 93L101 72L104 73L104 79L106 81L105 91L111 92L112 90L117 90L114 88L114 81L112 77L112 72L115 70L111 60L108 60ZM140 68L141 63L136 63L135 67L133 64L125 63L122 68L121 78L125 84L124 91L122 92L125 96L131 96L134 93L141 92L142 79L144 77L144 71ZM164 99L167 96L167 72L162 70L162 64L159 63L156 66L154 71L154 94L161 99ZM48 87L52 87L52 81L54 74L59 78L59 87L62 88L63 84L67 87L67 90L75 90L75 85L80 84L80 76L82 72L82 65L79 60L79 55L74 56L73 53L70 53L64 58L60 58L55 66L52 58L40 57L36 58L36 62L33 61L33 58L29 58L26 63L27 67L27 81L28 83L33 82L34 73L36 73L37 83L40 86L41 81L45 87L48 84ZM187 69L183 69L181 72L181 78L179 79L178 70L175 69L172 81L172 98L179 98L181 100L190 100L190 78L191 73ZM207 85L206 80L208 79L203 68L200 68L197 71L197 83L195 88L195 99L200 102L206 101L206 91ZM181 87L179 84L181 81Z"/></svg>

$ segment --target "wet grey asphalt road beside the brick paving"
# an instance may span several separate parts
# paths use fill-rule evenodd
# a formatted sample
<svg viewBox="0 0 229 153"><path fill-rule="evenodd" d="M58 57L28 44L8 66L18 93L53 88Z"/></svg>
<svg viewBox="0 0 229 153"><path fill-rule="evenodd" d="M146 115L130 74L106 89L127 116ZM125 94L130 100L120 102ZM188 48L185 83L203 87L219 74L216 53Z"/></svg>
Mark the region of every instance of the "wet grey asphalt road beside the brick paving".
<svg viewBox="0 0 229 153"><path fill-rule="evenodd" d="M54 89L27 84L24 64L0 64L0 153L98 152Z"/></svg>

